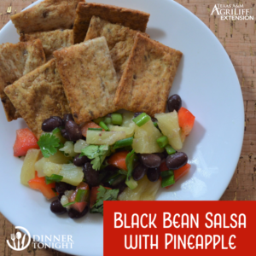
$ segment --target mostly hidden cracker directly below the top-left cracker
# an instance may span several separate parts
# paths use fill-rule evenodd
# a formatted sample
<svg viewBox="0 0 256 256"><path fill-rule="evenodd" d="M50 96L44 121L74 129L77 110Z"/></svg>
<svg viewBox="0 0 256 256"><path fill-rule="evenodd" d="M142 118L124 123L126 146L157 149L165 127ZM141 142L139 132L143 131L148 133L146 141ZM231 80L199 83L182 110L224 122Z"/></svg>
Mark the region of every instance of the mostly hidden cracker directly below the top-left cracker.
<svg viewBox="0 0 256 256"><path fill-rule="evenodd" d="M49 61L53 58L53 52L56 49L68 47L73 45L73 30L55 30L50 32L33 32L28 34L22 34L20 37L21 42L27 42L35 39L40 39L46 59Z"/></svg>

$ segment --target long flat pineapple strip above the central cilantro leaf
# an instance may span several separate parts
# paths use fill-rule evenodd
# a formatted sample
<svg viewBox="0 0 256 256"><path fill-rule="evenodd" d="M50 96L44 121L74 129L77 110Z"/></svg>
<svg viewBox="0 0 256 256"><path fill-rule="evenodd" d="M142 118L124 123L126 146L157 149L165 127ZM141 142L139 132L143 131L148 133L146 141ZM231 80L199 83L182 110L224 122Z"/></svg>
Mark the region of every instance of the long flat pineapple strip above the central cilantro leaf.
<svg viewBox="0 0 256 256"><path fill-rule="evenodd" d="M94 145L113 145L125 139L125 131L87 131L86 143Z"/></svg>

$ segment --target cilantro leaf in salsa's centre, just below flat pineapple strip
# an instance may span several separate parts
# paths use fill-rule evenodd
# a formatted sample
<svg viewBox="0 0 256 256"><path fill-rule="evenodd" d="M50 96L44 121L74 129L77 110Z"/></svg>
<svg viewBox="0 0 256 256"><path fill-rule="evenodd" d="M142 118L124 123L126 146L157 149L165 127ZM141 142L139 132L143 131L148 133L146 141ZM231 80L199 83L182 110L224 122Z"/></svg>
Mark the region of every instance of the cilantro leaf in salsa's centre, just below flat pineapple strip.
<svg viewBox="0 0 256 256"><path fill-rule="evenodd" d="M101 169L103 161L110 154L108 145L90 145L83 148L81 151L82 155L86 155L89 159L93 159L90 163L92 164L92 168L96 171Z"/></svg>

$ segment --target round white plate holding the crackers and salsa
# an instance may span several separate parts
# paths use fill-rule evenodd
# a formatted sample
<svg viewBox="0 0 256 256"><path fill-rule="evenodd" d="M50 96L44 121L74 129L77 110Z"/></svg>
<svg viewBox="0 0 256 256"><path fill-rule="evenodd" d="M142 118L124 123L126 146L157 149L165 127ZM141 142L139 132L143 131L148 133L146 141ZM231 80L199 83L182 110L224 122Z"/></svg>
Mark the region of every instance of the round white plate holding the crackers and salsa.
<svg viewBox="0 0 256 256"><path fill-rule="evenodd" d="M172 189L160 191L158 200L218 200L236 169L243 139L244 112L241 89L229 56L201 20L170 0L100 0L151 14L147 32L155 40L183 52L172 94L195 114L194 130L183 151L192 164L187 177ZM10 22L0 32L0 43L16 43ZM101 255L102 216L88 214L73 221L56 217L49 201L37 191L20 185L22 160L13 157L15 131L24 127L19 119L8 123L0 108L1 212L31 234L72 235L76 255ZM4 195L4 196L3 196Z"/></svg>

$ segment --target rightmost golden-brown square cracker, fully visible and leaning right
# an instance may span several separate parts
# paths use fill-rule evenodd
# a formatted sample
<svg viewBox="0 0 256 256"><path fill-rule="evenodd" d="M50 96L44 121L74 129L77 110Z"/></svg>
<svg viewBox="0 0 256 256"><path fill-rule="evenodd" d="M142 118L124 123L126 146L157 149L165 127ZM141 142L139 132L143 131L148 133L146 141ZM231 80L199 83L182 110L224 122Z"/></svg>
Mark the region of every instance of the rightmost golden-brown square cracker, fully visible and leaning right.
<svg viewBox="0 0 256 256"><path fill-rule="evenodd" d="M166 111L166 101L182 53L137 33L114 104L150 116Z"/></svg>

